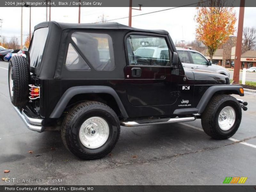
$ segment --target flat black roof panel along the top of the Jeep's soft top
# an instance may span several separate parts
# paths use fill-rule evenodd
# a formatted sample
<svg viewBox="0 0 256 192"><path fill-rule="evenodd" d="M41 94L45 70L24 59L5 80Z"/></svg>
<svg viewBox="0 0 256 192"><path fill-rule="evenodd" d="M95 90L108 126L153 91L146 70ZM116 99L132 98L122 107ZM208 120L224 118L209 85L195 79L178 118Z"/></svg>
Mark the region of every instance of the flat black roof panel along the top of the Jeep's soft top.
<svg viewBox="0 0 256 192"><path fill-rule="evenodd" d="M116 22L107 22L107 23L60 23L56 21L48 21L42 22L35 26L35 30L38 28L49 27L50 25L55 25L61 30L64 29L72 29L72 28L86 28L86 29L115 29L115 30L132 30L132 31L143 31L143 32L151 32L158 34L168 34L165 30L147 30L147 29L139 29L133 28L126 25L122 25Z"/></svg>

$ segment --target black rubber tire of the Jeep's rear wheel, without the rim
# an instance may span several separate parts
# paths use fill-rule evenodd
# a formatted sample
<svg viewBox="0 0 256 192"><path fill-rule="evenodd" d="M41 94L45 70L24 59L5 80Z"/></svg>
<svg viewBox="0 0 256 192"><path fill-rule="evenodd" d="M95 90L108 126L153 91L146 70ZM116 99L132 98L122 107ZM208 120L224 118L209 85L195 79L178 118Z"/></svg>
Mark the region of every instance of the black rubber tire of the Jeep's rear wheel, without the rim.
<svg viewBox="0 0 256 192"><path fill-rule="evenodd" d="M101 147L95 149L85 147L79 138L81 125L92 116L104 118L109 126L108 139ZM66 148L85 160L106 156L115 147L119 135L120 122L116 113L109 106L96 101L86 101L70 109L61 128L61 138Z"/></svg>

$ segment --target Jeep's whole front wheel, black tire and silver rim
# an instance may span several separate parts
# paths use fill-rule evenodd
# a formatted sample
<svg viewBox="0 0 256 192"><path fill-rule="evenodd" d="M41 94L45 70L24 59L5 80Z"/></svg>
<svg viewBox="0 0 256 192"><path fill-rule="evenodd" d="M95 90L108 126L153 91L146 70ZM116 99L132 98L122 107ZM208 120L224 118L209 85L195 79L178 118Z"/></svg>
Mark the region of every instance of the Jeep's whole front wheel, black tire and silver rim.
<svg viewBox="0 0 256 192"><path fill-rule="evenodd" d="M230 95L215 95L202 114L204 132L214 139L228 139L241 123L242 110L236 98Z"/></svg>

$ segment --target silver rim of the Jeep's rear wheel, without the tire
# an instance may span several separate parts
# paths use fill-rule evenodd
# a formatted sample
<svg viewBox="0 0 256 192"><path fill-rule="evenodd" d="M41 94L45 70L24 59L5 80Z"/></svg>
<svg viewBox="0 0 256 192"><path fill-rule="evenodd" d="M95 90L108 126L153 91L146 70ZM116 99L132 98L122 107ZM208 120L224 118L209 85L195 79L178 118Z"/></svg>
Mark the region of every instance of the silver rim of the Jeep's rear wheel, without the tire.
<svg viewBox="0 0 256 192"><path fill-rule="evenodd" d="M86 119L79 130L81 143L90 149L99 148L106 143L109 136L109 126L101 117Z"/></svg>

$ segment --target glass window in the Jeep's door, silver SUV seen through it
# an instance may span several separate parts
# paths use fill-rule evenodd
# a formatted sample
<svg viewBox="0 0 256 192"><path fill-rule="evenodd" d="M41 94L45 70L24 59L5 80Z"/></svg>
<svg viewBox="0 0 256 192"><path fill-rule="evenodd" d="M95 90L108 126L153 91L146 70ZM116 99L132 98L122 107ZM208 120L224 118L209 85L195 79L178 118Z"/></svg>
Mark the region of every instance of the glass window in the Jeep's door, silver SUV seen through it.
<svg viewBox="0 0 256 192"><path fill-rule="evenodd" d="M129 65L170 66L165 38L130 35L126 40Z"/></svg>

